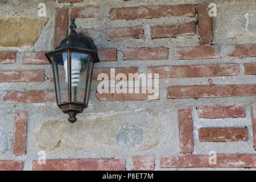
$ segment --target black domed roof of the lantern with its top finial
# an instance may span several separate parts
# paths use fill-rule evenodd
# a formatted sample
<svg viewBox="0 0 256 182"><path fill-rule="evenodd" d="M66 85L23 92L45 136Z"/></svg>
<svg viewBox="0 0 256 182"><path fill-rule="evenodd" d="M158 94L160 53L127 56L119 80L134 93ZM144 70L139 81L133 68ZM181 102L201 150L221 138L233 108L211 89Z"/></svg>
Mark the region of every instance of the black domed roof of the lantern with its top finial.
<svg viewBox="0 0 256 182"><path fill-rule="evenodd" d="M100 59L98 58L97 48L92 42L92 39L84 34L77 34L75 18L71 19L71 25L69 26L69 28L71 30L69 36L61 40L60 45L56 47L54 51L49 51L46 53L48 60L51 60L50 55L55 55L57 52L63 52L67 49L71 49L71 51L74 50L80 52L90 52L94 57L94 63L100 62Z"/></svg>

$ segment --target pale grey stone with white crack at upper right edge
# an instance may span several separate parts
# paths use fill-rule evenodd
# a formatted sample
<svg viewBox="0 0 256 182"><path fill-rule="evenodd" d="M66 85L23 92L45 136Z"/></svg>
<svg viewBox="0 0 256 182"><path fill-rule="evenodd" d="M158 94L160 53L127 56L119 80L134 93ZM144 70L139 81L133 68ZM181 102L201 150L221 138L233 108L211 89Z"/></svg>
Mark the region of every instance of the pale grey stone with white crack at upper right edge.
<svg viewBox="0 0 256 182"><path fill-rule="evenodd" d="M256 10L234 14L230 20L226 38L236 39L237 36L256 38Z"/></svg>

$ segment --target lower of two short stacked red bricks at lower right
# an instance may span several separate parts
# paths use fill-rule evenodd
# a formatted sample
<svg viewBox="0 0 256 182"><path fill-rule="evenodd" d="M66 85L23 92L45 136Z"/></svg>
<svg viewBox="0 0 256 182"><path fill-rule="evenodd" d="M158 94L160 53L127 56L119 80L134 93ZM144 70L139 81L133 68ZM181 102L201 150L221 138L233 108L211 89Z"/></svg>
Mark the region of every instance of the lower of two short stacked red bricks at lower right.
<svg viewBox="0 0 256 182"><path fill-rule="evenodd" d="M247 141L245 127L208 127L199 129L199 142Z"/></svg>

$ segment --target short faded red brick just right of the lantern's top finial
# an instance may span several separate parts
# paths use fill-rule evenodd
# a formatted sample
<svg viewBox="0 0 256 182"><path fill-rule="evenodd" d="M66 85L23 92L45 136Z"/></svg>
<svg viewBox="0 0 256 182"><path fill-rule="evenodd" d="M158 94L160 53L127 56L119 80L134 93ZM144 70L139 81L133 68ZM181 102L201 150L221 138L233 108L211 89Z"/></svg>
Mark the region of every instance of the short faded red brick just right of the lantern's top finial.
<svg viewBox="0 0 256 182"><path fill-rule="evenodd" d="M106 39L139 39L143 36L143 29L137 27L106 28L104 31Z"/></svg>

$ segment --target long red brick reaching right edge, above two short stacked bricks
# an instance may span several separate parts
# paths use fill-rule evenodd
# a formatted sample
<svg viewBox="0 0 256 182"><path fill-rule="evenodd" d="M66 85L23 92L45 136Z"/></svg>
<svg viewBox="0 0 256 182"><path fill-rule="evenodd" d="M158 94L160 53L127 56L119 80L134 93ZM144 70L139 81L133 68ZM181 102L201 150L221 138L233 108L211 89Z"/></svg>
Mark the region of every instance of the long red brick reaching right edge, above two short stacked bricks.
<svg viewBox="0 0 256 182"><path fill-rule="evenodd" d="M168 98L256 96L256 85L189 85L170 86Z"/></svg>

